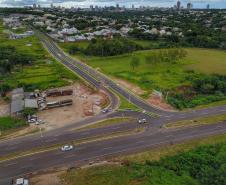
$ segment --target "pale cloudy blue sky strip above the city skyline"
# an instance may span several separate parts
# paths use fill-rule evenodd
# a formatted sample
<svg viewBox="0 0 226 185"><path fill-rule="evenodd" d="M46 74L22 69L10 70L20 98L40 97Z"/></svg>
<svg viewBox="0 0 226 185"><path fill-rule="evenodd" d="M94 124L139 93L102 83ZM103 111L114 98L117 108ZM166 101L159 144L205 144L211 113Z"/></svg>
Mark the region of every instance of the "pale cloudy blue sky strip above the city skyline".
<svg viewBox="0 0 226 185"><path fill-rule="evenodd" d="M7 1L9 3L7 3ZM24 5L32 5L33 3L40 4L41 6L48 7L51 3L55 6L61 7L80 7L80 8L88 8L90 5L93 6L115 6L119 4L119 6L125 6L126 8L131 8L132 5L135 7L139 6L150 6L150 7L173 7L177 0L0 0L0 6L24 6ZM226 9L226 0L181 0L182 6L186 7L188 2L193 4L194 8L206 8L207 4L210 4L210 8L217 9Z"/></svg>

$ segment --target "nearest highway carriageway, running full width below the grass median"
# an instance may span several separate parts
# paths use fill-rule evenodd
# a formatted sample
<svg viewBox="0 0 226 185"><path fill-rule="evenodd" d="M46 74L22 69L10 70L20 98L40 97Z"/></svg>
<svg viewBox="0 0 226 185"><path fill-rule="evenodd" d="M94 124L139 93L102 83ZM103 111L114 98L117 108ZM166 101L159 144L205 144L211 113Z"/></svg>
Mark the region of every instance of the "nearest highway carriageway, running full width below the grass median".
<svg viewBox="0 0 226 185"><path fill-rule="evenodd" d="M103 160L106 157L147 150L160 145L225 132L225 122L189 129L168 130L155 133L146 132L146 134L136 136L78 145L70 152L54 150L26 158L2 162L0 163L0 185L6 185L12 177L25 175L37 170L60 166L78 166L97 159Z"/></svg>

